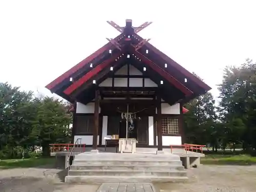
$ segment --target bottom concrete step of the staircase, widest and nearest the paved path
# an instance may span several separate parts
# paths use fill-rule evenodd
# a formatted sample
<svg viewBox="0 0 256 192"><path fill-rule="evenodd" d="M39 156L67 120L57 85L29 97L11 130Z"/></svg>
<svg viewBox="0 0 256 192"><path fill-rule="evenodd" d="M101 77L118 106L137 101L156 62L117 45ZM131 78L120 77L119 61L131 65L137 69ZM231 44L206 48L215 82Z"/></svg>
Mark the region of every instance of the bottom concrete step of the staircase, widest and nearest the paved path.
<svg viewBox="0 0 256 192"><path fill-rule="evenodd" d="M186 182L187 177L153 177L153 176L66 176L67 183L151 183L151 182Z"/></svg>

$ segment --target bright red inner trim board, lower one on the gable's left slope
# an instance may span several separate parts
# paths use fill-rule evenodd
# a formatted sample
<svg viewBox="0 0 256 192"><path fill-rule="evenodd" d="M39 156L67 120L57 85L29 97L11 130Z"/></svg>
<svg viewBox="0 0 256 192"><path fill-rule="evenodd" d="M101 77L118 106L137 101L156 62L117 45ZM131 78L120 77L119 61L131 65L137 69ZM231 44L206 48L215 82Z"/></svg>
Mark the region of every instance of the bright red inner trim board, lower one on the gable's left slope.
<svg viewBox="0 0 256 192"><path fill-rule="evenodd" d="M87 74L83 75L80 79L78 79L76 82L72 83L71 86L69 86L65 91L63 91L66 95L70 95L72 92L74 92L77 88L82 86L83 83L87 82L90 78L92 78L94 75L99 73L104 68L110 66L115 59L120 56L121 53L116 53L111 58L105 60L100 65L89 71Z"/></svg>

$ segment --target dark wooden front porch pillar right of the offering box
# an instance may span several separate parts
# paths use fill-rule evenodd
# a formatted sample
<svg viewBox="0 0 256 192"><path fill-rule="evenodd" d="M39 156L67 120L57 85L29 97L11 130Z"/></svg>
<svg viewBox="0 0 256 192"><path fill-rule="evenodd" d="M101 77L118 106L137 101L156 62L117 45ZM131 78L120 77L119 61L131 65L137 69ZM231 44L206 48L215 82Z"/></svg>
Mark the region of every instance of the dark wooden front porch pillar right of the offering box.
<svg viewBox="0 0 256 192"><path fill-rule="evenodd" d="M157 94L157 151L163 151L161 96Z"/></svg>

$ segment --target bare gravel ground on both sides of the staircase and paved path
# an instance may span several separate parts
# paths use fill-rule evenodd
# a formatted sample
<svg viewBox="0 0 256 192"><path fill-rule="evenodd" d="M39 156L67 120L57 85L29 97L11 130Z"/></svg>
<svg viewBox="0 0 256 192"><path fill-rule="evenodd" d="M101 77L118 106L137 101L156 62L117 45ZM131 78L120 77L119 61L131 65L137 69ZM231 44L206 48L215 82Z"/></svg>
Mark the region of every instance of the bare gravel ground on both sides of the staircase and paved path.
<svg viewBox="0 0 256 192"><path fill-rule="evenodd" d="M1 192L95 192L99 185L63 183L65 171L53 168L0 169ZM202 165L188 170L186 183L155 183L161 192L255 192L256 166Z"/></svg>

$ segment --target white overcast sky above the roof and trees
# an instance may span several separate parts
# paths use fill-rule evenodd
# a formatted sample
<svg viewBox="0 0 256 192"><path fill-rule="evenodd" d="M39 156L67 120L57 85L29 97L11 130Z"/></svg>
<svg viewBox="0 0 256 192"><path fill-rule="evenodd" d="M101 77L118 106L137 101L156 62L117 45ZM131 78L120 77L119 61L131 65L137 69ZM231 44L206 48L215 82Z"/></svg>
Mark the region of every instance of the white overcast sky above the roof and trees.
<svg viewBox="0 0 256 192"><path fill-rule="evenodd" d="M139 34L218 96L226 65L256 60L256 1L0 0L0 82L50 92L46 84L103 46L120 26L152 25Z"/></svg>

